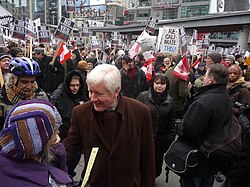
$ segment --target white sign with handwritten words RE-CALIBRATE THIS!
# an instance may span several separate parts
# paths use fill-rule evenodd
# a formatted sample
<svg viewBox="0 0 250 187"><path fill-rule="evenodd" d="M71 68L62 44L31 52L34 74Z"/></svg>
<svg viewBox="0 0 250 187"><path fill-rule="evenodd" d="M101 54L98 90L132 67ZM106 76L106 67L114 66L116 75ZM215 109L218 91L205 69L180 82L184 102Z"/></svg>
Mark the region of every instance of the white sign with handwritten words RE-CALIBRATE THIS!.
<svg viewBox="0 0 250 187"><path fill-rule="evenodd" d="M163 27L158 35L159 50L167 54L179 53L179 28Z"/></svg>

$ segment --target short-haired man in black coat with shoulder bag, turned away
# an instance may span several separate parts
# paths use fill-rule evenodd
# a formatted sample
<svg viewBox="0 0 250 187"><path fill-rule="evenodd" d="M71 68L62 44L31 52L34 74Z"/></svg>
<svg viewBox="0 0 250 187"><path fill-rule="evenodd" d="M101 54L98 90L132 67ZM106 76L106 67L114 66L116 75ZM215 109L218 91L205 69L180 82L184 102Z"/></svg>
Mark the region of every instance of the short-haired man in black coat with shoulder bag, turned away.
<svg viewBox="0 0 250 187"><path fill-rule="evenodd" d="M207 138L224 128L232 117L230 97L227 94L228 70L222 64L212 64L205 74L199 96L189 106L183 123L177 126L177 133L187 144L200 149ZM222 135L219 142L225 142ZM181 187L212 187L214 176L221 160L205 157L200 153L198 164L192 171L181 177Z"/></svg>

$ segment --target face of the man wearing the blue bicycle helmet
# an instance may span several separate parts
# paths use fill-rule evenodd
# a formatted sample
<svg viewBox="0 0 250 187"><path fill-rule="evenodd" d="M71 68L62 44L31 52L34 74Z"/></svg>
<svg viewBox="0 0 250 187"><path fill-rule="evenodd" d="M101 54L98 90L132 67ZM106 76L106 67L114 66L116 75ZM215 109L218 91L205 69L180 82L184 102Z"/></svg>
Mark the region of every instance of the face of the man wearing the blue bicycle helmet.
<svg viewBox="0 0 250 187"><path fill-rule="evenodd" d="M36 89L35 76L19 76L17 80L17 87L25 93L25 96L31 97Z"/></svg>

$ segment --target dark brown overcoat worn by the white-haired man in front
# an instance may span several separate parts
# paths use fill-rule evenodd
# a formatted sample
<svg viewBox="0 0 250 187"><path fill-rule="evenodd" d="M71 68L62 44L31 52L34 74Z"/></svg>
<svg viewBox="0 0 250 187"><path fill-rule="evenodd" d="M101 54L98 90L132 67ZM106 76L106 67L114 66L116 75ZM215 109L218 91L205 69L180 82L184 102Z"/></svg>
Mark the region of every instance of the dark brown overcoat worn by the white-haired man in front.
<svg viewBox="0 0 250 187"><path fill-rule="evenodd" d="M116 108L119 123L111 147L93 110L91 102L73 109L71 128L63 142L68 163L82 150L87 165L91 149L99 147L88 181L91 187L155 186L154 142L149 108L139 101L120 96Z"/></svg>

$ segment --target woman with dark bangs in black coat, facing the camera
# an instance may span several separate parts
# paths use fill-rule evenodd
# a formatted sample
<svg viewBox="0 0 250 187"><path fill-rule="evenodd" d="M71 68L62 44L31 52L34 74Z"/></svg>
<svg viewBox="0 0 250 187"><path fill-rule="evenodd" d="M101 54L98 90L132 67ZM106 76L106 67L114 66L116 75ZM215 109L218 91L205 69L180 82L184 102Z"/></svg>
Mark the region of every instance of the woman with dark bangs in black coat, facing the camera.
<svg viewBox="0 0 250 187"><path fill-rule="evenodd" d="M168 95L169 81L165 74L155 74L149 91L141 92L137 100L151 110L155 141L155 178L162 172L164 153L175 139L175 119L171 98Z"/></svg>

